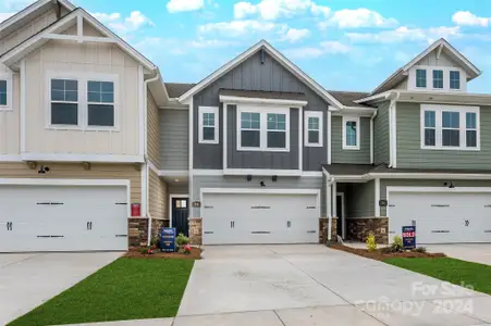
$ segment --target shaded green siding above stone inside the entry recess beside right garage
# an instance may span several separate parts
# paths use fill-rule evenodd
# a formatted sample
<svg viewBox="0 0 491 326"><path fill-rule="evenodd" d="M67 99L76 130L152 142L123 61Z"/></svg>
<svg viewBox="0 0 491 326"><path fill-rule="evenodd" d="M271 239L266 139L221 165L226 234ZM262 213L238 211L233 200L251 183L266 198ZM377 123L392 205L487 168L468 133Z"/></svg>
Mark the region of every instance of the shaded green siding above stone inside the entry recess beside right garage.
<svg viewBox="0 0 491 326"><path fill-rule="evenodd" d="M346 217L375 216L375 181L346 184Z"/></svg>

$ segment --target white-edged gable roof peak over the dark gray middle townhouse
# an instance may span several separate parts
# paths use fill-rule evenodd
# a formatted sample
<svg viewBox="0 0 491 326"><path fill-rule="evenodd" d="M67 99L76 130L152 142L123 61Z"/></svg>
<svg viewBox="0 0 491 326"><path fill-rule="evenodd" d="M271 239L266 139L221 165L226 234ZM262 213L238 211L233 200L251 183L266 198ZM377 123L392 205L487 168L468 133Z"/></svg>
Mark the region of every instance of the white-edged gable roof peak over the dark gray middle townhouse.
<svg viewBox="0 0 491 326"><path fill-rule="evenodd" d="M179 101L183 102L191 98L193 95L199 92L214 80L223 76L224 74L232 71L234 67L253 57L257 51L265 49L268 54L270 54L274 60L277 60L280 64L282 64L287 71L294 74L298 79L305 83L308 87L310 87L317 95L323 98L327 102L331 103L333 106L342 108L341 104L333 96L331 96L322 86L320 86L316 80L314 80L310 76L304 73L298 66L287 60L283 54L281 54L277 49L274 49L270 43L266 40L260 40L255 46L250 47L248 50L243 52L242 54L234 58L232 61L228 62L220 68L218 68L214 73L210 74L208 77L196 84L188 91L183 93Z"/></svg>

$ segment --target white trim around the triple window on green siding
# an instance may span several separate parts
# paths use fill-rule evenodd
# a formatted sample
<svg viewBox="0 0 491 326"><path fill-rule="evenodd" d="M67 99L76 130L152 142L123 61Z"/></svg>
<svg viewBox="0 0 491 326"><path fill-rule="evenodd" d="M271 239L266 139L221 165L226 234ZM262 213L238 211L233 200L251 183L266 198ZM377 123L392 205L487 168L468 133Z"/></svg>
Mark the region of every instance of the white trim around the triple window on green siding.
<svg viewBox="0 0 491 326"><path fill-rule="evenodd" d="M434 111L435 120L435 146L425 145L425 111ZM459 147L442 146L442 112L459 113ZM476 113L476 145L477 147L466 147L466 113ZM440 105L440 104L421 104L420 112L420 145L425 150L457 150L457 151L480 151L480 109L479 106L458 106L458 105Z"/></svg>

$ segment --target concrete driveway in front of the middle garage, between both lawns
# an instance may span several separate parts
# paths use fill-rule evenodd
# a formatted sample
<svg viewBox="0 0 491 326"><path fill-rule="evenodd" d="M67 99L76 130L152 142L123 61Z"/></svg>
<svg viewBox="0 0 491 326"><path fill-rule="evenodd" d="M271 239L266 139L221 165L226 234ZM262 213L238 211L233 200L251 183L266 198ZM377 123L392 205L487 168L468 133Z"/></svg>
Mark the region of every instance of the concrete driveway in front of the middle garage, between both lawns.
<svg viewBox="0 0 491 326"><path fill-rule="evenodd" d="M206 247L174 326L484 325L491 297L323 246Z"/></svg>

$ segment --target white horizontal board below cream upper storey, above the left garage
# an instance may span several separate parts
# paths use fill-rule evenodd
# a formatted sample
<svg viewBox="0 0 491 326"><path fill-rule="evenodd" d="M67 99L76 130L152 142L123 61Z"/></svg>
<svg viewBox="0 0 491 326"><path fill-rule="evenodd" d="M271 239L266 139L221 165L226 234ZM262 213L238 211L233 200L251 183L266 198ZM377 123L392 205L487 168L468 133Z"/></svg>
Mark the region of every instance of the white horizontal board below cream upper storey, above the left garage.
<svg viewBox="0 0 491 326"><path fill-rule="evenodd" d="M144 163L143 155L111 154L60 154L60 153L22 153L22 161L35 162L97 162L97 163Z"/></svg>

